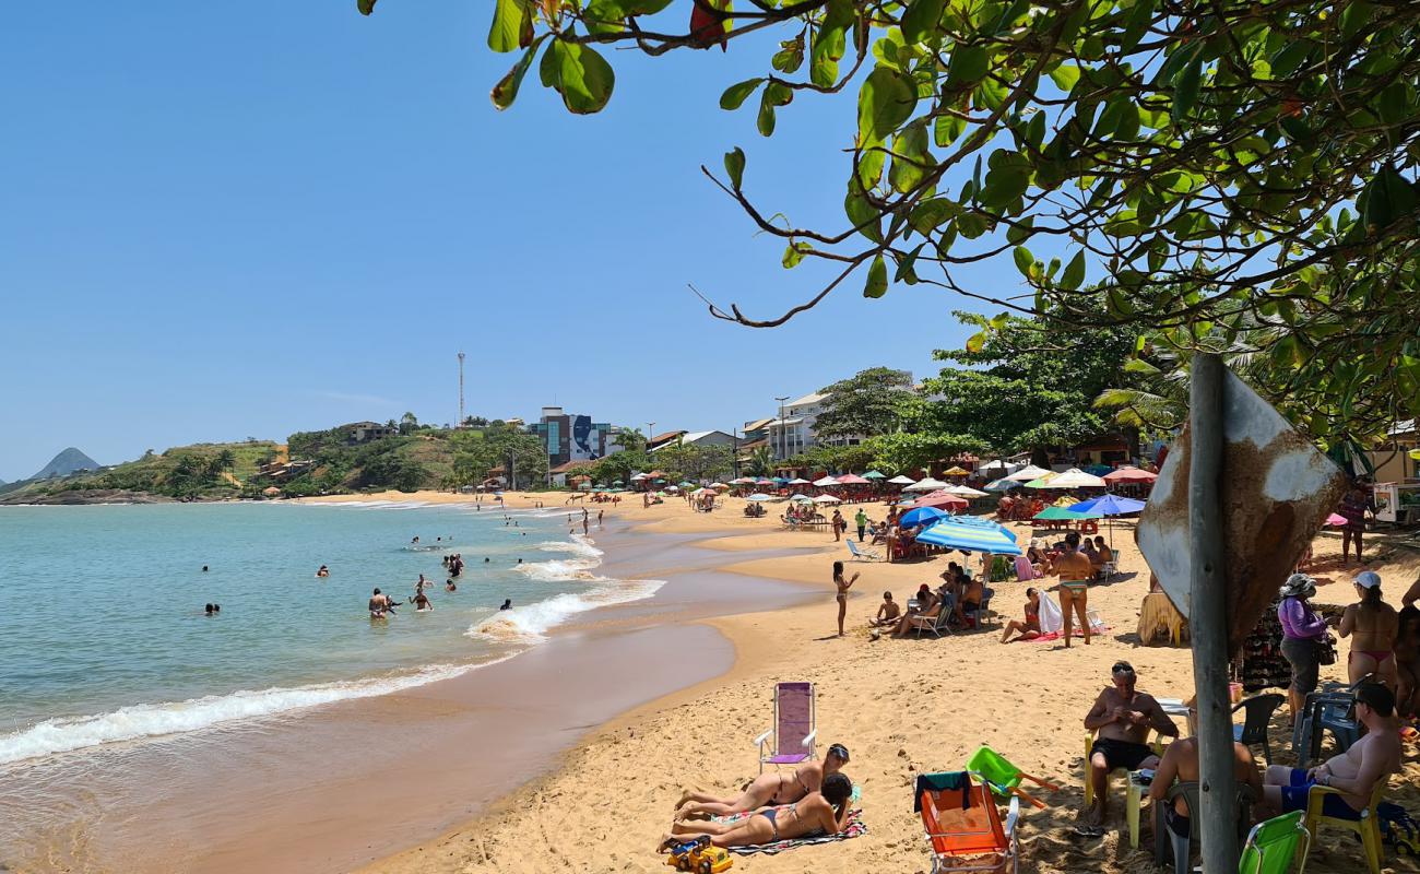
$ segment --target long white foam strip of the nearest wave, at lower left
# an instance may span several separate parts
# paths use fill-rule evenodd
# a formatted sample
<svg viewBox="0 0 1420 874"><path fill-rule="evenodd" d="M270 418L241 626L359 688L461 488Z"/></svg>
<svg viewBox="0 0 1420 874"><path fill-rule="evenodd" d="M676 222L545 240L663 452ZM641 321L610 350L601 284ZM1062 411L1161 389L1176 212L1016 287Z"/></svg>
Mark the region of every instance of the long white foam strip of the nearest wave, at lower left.
<svg viewBox="0 0 1420 874"><path fill-rule="evenodd" d="M439 679L449 679L491 664L497 662L430 665L415 674L398 676L297 688L243 689L230 695L207 695L179 702L139 703L97 716L45 719L27 729L0 735L0 765L105 743L195 732L240 719L274 716L337 701L388 695Z"/></svg>

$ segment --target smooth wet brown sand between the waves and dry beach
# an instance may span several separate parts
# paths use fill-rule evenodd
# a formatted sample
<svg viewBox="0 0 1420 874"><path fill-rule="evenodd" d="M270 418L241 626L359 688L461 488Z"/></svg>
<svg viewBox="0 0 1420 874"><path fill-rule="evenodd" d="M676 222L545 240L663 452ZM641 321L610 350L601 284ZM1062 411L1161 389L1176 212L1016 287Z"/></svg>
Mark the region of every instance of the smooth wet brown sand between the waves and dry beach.
<svg viewBox="0 0 1420 874"><path fill-rule="evenodd" d="M34 871L348 871L479 814L618 713L728 671L734 648L696 620L814 597L716 570L746 556L689 546L699 536L625 532L612 520L594 530L606 551L596 573L667 583L652 598L582 614L507 661L0 775L0 814L24 807L44 821L0 861Z"/></svg>

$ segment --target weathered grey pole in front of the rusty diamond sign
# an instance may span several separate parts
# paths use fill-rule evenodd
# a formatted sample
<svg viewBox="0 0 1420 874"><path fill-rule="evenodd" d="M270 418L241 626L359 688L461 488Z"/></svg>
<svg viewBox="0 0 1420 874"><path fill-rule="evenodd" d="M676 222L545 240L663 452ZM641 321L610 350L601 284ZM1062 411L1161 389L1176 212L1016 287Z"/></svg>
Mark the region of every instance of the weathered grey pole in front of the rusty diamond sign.
<svg viewBox="0 0 1420 874"><path fill-rule="evenodd" d="M1198 796L1204 871L1238 865L1237 777L1233 773L1233 713L1228 701L1228 601L1224 577L1223 360L1193 357L1189 396L1189 546L1193 551L1193 688L1198 706Z"/></svg>

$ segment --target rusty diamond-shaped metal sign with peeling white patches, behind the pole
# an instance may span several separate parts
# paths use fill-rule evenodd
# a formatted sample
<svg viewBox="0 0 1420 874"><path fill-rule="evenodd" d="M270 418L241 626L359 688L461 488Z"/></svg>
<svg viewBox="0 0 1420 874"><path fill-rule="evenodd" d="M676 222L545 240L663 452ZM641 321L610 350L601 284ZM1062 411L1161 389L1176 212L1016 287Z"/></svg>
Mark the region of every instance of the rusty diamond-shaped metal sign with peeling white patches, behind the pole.
<svg viewBox="0 0 1420 874"><path fill-rule="evenodd" d="M1223 505L1228 651L1237 652L1346 490L1346 475L1231 371L1224 374ZM1169 600L1190 611L1191 442L1169 448L1139 516L1139 550Z"/></svg>

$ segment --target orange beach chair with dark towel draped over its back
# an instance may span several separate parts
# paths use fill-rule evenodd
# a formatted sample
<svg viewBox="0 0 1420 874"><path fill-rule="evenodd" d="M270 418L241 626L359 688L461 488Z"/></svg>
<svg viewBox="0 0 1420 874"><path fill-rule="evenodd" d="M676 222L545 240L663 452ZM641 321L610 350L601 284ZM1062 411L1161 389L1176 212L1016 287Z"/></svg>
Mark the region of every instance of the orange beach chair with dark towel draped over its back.
<svg viewBox="0 0 1420 874"><path fill-rule="evenodd" d="M917 777L916 807L932 847L932 873L1020 870L1020 844L1015 824L1021 802L1011 797L1001 824L991 792L971 782L964 770L922 775Z"/></svg>

